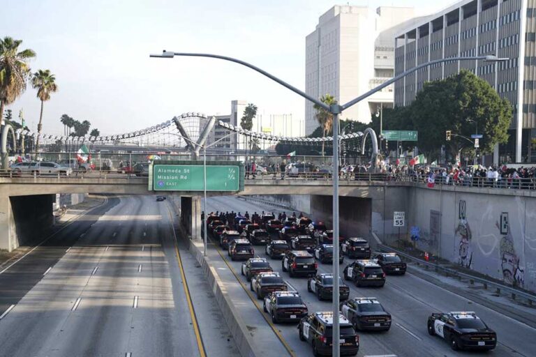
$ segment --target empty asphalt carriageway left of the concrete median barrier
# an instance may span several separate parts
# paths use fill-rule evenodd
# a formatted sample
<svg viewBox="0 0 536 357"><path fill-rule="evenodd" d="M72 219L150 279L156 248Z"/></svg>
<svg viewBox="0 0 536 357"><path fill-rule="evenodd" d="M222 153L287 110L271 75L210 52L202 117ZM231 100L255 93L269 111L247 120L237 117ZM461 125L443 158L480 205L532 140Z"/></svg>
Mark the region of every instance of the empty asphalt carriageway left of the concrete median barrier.
<svg viewBox="0 0 536 357"><path fill-rule="evenodd" d="M171 218L154 196L110 197L0 273L0 356L236 355L179 239L195 331Z"/></svg>

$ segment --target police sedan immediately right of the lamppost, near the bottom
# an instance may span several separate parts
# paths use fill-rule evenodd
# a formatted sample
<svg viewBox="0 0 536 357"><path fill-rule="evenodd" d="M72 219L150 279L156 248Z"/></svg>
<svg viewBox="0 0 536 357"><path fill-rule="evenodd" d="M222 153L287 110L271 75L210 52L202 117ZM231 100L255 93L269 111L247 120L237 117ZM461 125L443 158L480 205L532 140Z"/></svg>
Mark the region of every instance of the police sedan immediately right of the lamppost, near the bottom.
<svg viewBox="0 0 536 357"><path fill-rule="evenodd" d="M376 298L352 298L341 303L341 313L356 330L388 331L391 314Z"/></svg>

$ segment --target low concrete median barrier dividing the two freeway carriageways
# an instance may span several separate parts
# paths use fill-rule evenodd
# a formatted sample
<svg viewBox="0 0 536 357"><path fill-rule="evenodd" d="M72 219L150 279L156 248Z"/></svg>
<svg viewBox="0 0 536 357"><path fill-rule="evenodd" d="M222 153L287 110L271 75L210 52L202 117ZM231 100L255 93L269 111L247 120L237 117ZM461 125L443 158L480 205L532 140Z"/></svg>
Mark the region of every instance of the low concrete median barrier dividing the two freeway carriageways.
<svg viewBox="0 0 536 357"><path fill-rule="evenodd" d="M251 337L251 335L248 333L248 328L236 311L234 303L228 294L225 293L225 287L223 282L218 277L218 273L216 273L216 270L209 265L206 259L204 259L202 245L202 241L197 242L191 240L190 252L202 266L204 275L207 277L207 282L209 283L212 292L216 297L218 307L225 318L225 322L229 327L230 333L232 333L232 336L234 337L234 342L237 344L241 356L258 356L253 351L253 337Z"/></svg>

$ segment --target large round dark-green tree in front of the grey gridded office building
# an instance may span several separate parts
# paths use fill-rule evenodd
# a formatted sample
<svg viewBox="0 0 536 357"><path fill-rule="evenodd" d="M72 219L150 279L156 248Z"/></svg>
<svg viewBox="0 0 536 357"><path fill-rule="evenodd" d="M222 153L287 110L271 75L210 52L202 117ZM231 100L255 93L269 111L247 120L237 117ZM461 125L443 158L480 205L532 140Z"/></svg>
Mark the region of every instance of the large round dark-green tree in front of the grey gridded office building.
<svg viewBox="0 0 536 357"><path fill-rule="evenodd" d="M415 130L419 130L419 149L425 152L447 144L456 155L463 147L472 146L463 137L470 138L478 130L484 135L479 140L480 151L491 153L496 144L508 140L512 105L484 79L461 70L458 75L424 84L410 105L410 114ZM450 142L445 137L447 130L454 134Z"/></svg>

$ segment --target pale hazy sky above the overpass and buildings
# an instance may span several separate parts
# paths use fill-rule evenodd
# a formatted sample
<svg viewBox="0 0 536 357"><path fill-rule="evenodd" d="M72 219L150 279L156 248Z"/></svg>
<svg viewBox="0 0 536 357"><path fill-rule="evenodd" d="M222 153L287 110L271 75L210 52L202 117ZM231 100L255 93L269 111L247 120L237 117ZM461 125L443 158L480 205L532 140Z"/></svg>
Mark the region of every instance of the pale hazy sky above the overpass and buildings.
<svg viewBox="0 0 536 357"><path fill-rule="evenodd" d="M161 50L234 56L304 89L305 36L336 2L327 0L1 0L0 36L36 51L59 92L45 102L43 131L63 132L61 114L89 120L101 134L152 126L184 112L228 114L247 100L265 114L303 118L304 100L253 70L214 59L149 59ZM7 6L6 6L7 3ZM342 3L346 3L343 1ZM430 7L433 3L433 7ZM452 1L370 0L351 5L415 6ZM7 15L9 13L9 15ZM35 130L36 91L10 105Z"/></svg>

